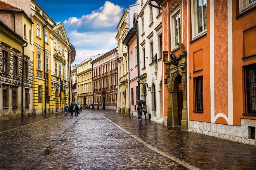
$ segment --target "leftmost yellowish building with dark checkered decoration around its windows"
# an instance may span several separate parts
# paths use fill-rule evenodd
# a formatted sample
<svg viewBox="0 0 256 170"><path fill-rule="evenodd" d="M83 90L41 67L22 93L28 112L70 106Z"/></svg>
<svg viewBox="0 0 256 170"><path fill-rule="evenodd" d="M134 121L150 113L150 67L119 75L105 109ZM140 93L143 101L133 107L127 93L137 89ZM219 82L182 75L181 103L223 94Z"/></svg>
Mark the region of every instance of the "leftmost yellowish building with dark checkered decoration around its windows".
<svg viewBox="0 0 256 170"><path fill-rule="evenodd" d="M32 20L0 2L0 120L32 113Z"/></svg>

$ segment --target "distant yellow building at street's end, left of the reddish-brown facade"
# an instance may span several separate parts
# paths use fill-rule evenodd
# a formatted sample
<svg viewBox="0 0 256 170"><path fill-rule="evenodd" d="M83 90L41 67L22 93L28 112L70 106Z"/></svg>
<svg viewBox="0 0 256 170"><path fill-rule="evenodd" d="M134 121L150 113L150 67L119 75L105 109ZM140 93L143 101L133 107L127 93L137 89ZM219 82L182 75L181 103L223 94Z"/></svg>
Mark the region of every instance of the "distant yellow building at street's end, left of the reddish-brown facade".
<svg viewBox="0 0 256 170"><path fill-rule="evenodd" d="M92 58L87 58L76 68L77 103L85 107L93 103Z"/></svg>

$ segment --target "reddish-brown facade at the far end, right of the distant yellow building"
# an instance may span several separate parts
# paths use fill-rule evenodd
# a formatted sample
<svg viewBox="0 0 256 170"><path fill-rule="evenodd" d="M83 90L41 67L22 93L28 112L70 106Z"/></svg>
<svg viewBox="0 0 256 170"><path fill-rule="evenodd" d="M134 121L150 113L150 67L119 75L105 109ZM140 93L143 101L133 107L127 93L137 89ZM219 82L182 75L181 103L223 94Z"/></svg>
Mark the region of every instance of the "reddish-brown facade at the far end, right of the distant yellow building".
<svg viewBox="0 0 256 170"><path fill-rule="evenodd" d="M116 109L117 107L117 48L93 58L93 97L95 108Z"/></svg>

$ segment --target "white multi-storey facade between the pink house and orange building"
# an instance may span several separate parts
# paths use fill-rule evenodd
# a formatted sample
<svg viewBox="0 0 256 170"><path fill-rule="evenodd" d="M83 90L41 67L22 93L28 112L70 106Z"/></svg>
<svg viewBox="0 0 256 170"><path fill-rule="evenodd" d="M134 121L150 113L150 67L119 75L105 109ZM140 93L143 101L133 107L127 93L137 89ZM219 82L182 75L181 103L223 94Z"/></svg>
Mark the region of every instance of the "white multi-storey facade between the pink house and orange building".
<svg viewBox="0 0 256 170"><path fill-rule="evenodd" d="M139 96L151 120L163 123L162 10L156 2L138 5Z"/></svg>

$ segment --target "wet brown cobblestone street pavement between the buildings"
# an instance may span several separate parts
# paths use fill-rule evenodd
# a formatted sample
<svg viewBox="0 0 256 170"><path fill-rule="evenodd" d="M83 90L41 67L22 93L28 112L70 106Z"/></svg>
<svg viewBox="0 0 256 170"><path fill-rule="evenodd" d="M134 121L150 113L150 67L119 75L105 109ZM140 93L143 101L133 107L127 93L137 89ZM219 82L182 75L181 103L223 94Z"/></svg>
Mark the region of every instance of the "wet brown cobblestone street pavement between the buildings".
<svg viewBox="0 0 256 170"><path fill-rule="evenodd" d="M0 121L1 170L255 170L256 147L115 110Z"/></svg>

